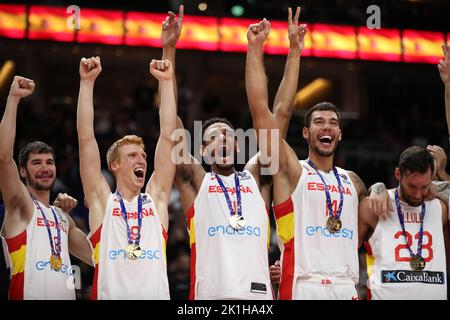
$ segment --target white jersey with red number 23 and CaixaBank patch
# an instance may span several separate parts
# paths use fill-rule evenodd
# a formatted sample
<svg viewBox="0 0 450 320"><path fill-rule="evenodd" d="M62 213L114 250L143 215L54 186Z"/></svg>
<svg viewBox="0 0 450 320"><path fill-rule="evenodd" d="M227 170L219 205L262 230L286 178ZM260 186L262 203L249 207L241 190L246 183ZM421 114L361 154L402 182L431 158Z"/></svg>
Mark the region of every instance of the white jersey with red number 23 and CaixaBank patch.
<svg viewBox="0 0 450 320"><path fill-rule="evenodd" d="M394 211L386 220L379 219L372 237L366 242L368 298L380 299L447 299L446 257L442 230L442 206L438 199L425 201L422 257L423 271L412 271L407 240L395 209L394 190L389 190ZM411 207L400 201L406 237L417 253L421 206Z"/></svg>

